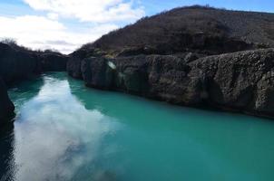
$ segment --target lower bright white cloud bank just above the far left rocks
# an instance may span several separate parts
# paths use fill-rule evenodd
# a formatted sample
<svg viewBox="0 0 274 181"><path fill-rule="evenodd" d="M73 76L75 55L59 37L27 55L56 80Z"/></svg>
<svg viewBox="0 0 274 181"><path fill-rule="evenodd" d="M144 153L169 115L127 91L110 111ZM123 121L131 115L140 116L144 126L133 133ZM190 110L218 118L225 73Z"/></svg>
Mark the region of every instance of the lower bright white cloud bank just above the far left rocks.
<svg viewBox="0 0 274 181"><path fill-rule="evenodd" d="M54 48L60 52L73 52L83 43L93 42L104 33L117 29L115 24L99 24L73 32L64 24L44 16L0 16L0 38L14 38L19 44L34 49Z"/></svg>

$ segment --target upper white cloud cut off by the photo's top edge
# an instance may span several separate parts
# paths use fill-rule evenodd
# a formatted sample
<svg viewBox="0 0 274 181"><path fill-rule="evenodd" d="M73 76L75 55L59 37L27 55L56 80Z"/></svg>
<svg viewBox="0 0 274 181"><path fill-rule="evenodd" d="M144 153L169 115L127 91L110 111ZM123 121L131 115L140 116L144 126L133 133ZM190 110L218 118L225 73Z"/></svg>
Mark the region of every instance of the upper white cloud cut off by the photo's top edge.
<svg viewBox="0 0 274 181"><path fill-rule="evenodd" d="M34 10L76 18L82 22L132 22L144 15L142 6L123 0L24 0Z"/></svg>

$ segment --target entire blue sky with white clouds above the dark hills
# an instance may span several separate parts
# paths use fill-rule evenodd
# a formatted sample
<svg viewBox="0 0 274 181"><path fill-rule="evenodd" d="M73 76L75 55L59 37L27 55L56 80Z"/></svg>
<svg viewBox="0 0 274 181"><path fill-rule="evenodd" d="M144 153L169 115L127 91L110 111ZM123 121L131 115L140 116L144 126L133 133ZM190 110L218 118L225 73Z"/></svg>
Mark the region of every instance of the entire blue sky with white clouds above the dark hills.
<svg viewBox="0 0 274 181"><path fill-rule="evenodd" d="M273 0L0 0L0 39L70 53L143 16L184 5L274 13Z"/></svg>

